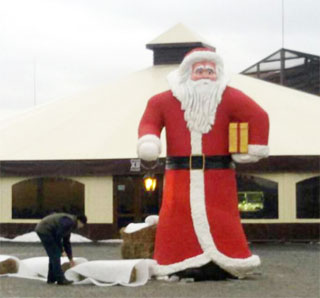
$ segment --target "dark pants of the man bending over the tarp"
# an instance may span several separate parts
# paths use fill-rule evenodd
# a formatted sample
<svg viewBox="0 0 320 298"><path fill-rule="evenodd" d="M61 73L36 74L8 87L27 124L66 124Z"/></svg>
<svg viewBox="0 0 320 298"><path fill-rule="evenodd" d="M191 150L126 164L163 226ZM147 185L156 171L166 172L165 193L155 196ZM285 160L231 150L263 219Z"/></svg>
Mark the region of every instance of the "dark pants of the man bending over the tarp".
<svg viewBox="0 0 320 298"><path fill-rule="evenodd" d="M64 273L61 269L61 246L51 235L37 233L49 257L48 283L61 282Z"/></svg>

